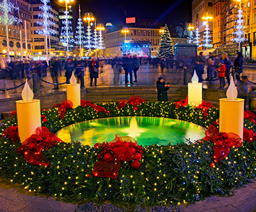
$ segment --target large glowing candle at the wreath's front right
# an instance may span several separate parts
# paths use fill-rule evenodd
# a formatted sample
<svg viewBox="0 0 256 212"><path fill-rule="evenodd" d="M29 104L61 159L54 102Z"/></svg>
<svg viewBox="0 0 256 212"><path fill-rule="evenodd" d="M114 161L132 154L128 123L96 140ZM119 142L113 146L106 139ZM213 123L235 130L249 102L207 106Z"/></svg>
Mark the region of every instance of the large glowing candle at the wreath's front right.
<svg viewBox="0 0 256 212"><path fill-rule="evenodd" d="M236 133L243 139L244 99L237 98L233 77L227 90L227 98L220 99L220 132Z"/></svg>

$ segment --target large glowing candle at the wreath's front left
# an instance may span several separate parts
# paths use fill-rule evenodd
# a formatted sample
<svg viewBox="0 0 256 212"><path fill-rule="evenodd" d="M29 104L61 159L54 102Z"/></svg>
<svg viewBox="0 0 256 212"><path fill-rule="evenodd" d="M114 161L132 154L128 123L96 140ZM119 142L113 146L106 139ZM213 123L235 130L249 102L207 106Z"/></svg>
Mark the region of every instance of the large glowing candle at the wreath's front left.
<svg viewBox="0 0 256 212"><path fill-rule="evenodd" d="M20 142L24 142L41 126L41 112L40 100L33 100L34 95L28 86L28 80L21 95L22 100L16 101L16 107Z"/></svg>

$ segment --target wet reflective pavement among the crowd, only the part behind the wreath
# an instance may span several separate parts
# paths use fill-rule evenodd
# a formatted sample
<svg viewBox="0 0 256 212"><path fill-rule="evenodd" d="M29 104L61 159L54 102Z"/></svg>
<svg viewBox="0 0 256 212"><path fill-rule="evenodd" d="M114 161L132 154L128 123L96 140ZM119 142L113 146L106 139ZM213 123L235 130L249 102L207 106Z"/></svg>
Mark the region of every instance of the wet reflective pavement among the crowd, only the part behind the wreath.
<svg viewBox="0 0 256 212"><path fill-rule="evenodd" d="M190 71L191 73L193 70ZM247 75L249 80L256 82L256 64L244 64L244 75ZM65 74L65 70L61 72L62 76L58 77L59 83L65 82L66 78L63 77ZM134 83L134 85L128 84L128 86L153 86L156 85L156 80L158 77L163 77L165 82L169 82L170 84L180 84L182 85L184 82L184 73L183 70L171 70L171 69L164 69L164 73L161 73L160 68L154 68L152 65L142 65L140 69L138 70L138 82ZM206 78L206 75L203 75L203 79ZM47 73L47 77L42 77L47 82L52 82L52 79L50 77L50 74ZM134 76L133 76L134 80ZM0 79L0 89L9 89L12 87L19 86L24 82L24 79L17 79L17 80L10 80L10 79ZM191 74L188 73L188 82L191 82ZM39 93L52 93L52 92L58 92L58 91L65 91L66 86L61 85L60 89L58 91L52 90L53 86L51 84L47 84L45 82L40 82L42 84L42 91L38 91ZM86 68L86 72L84 74L84 86L88 87L90 84L90 78L89 78L89 72L88 68ZM226 80L227 84L227 80ZM29 86L32 89L32 80L29 80ZM99 73L99 79L97 82L98 87L114 87L115 85L113 84L113 69L109 64L105 65L102 70L100 70ZM120 74L120 84L118 86L124 87L124 70ZM211 87L211 88L216 88L220 86L219 80L216 80L214 82L203 82L203 87ZM252 84L249 84L249 87L252 87ZM226 86L227 87L227 86ZM6 91L5 93L3 91L0 91L0 98L5 99L5 98L12 98L16 96L20 96L20 93L22 91L23 86L17 88L17 89L12 89L10 91Z"/></svg>

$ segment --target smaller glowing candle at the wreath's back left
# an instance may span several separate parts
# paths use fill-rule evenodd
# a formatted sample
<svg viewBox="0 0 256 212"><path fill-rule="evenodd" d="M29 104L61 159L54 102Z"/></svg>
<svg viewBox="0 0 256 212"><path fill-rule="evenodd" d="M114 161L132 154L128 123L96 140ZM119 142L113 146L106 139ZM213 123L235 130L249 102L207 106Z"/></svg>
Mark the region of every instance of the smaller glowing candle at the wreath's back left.
<svg viewBox="0 0 256 212"><path fill-rule="evenodd" d="M76 84L74 72L70 78L70 84L67 84L67 100L73 103L73 109L81 105L80 84Z"/></svg>

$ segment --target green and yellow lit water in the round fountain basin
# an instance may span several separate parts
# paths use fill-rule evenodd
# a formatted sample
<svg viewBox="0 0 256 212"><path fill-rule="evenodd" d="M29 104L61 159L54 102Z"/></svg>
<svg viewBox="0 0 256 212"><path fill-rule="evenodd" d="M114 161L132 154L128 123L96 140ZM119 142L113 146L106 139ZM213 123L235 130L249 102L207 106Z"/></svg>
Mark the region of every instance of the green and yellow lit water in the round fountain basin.
<svg viewBox="0 0 256 212"><path fill-rule="evenodd" d="M65 142L79 140L81 143L93 146L97 142L111 141L115 134L131 136L138 144L177 144L204 137L204 128L180 121L162 117L109 117L76 123L58 132L58 137Z"/></svg>

